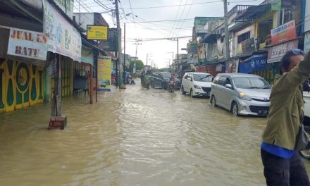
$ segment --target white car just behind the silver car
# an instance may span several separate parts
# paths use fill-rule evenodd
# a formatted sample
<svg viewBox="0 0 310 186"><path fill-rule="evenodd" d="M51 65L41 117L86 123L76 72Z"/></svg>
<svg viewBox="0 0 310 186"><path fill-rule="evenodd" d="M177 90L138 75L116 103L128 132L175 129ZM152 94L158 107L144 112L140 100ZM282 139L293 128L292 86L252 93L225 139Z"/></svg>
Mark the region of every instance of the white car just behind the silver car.
<svg viewBox="0 0 310 186"><path fill-rule="evenodd" d="M211 83L214 77L209 73L185 73L182 78L182 94L190 97L210 97Z"/></svg>

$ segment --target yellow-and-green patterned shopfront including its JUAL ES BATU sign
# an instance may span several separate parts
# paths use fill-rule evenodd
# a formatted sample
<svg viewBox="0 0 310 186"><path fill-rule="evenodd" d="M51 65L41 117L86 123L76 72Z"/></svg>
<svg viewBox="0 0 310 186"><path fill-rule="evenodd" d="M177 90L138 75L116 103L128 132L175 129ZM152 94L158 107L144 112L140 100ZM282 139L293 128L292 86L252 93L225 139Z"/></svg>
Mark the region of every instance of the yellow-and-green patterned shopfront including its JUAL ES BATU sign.
<svg viewBox="0 0 310 186"><path fill-rule="evenodd" d="M0 26L0 112L44 101L46 35Z"/></svg>

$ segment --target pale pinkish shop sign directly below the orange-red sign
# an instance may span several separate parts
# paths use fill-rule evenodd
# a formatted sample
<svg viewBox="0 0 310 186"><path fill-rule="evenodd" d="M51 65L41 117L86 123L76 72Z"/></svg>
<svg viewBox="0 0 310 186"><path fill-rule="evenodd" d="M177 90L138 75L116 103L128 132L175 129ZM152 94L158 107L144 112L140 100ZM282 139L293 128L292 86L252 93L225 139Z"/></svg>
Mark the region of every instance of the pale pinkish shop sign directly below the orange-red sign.
<svg viewBox="0 0 310 186"><path fill-rule="evenodd" d="M278 44L268 48L268 63L280 62L285 53L289 50L296 49L298 46L298 39L290 42Z"/></svg>

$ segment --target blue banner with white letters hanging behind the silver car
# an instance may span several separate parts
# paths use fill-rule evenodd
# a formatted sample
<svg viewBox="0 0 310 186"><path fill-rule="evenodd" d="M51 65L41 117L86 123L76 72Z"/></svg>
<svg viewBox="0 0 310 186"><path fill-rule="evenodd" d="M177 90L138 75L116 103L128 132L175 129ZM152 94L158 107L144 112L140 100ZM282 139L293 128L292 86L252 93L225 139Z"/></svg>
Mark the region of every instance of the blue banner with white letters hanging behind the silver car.
<svg viewBox="0 0 310 186"><path fill-rule="evenodd" d="M238 73L252 73L256 70L266 70L268 67L266 55L254 55L239 63Z"/></svg>

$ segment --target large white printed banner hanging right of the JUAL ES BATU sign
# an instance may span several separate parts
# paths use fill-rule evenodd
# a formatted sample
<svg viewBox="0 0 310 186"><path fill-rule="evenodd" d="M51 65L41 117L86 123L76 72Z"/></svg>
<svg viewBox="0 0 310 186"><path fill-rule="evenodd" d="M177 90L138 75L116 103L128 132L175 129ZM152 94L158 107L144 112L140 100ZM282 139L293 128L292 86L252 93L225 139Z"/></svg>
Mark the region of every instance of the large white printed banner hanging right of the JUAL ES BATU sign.
<svg viewBox="0 0 310 186"><path fill-rule="evenodd" d="M44 0L43 30L49 37L48 51L81 61L82 39L80 32Z"/></svg>

